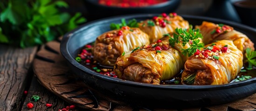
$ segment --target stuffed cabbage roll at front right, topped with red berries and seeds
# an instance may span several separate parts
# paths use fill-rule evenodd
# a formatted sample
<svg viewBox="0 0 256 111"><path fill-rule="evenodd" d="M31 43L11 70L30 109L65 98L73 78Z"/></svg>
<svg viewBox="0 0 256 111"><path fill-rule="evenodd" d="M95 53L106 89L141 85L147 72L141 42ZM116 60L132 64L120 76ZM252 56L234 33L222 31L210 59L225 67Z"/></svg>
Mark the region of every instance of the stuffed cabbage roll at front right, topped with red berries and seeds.
<svg viewBox="0 0 256 111"><path fill-rule="evenodd" d="M205 46L185 62L181 80L189 85L221 85L235 79L243 65L242 51L230 40Z"/></svg>

